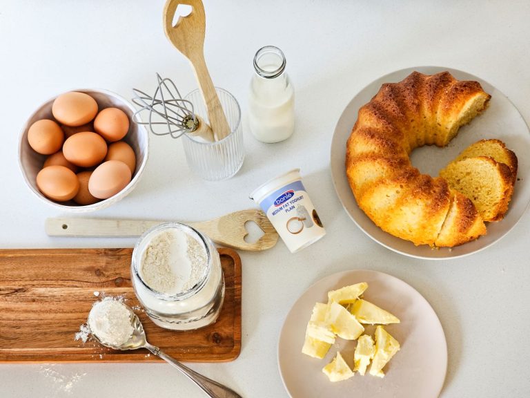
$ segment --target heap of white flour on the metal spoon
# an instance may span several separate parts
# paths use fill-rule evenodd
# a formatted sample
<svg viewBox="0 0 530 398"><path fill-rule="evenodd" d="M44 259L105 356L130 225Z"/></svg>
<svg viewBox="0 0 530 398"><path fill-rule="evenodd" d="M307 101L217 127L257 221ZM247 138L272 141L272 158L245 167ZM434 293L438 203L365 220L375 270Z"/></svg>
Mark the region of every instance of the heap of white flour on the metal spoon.
<svg viewBox="0 0 530 398"><path fill-rule="evenodd" d="M129 310L112 297L94 304L88 314L88 328L102 343L115 346L124 344L134 332Z"/></svg>

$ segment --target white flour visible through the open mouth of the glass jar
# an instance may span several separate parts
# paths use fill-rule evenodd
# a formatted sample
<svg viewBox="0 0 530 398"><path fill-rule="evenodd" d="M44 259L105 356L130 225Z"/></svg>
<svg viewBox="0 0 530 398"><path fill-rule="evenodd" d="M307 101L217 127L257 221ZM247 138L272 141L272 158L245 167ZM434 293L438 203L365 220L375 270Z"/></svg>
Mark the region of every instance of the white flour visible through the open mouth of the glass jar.
<svg viewBox="0 0 530 398"><path fill-rule="evenodd" d="M162 231L146 247L141 278L157 292L186 292L202 279L208 257L202 243L179 229Z"/></svg>

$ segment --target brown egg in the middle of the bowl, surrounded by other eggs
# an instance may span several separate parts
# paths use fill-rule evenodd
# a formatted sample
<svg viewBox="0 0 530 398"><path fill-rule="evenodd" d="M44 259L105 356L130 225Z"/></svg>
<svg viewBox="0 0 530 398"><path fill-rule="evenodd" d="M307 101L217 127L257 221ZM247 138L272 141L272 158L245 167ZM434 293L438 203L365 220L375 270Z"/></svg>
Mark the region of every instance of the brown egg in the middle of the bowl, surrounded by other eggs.
<svg viewBox="0 0 530 398"><path fill-rule="evenodd" d="M63 154L76 166L92 167L105 159L107 143L101 135L84 131L72 135L64 142Z"/></svg>

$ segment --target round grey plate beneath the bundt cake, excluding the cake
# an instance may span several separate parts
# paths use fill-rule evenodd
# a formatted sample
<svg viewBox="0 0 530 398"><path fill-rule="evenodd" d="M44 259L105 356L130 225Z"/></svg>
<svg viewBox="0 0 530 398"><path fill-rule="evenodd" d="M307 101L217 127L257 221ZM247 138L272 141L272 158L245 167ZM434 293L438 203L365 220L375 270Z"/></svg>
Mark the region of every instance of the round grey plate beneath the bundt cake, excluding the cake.
<svg viewBox="0 0 530 398"><path fill-rule="evenodd" d="M413 165L418 167L422 173L429 173L431 176L438 176L438 171L447 163L451 162L460 151L469 144L487 138L498 138L506 143L507 147L516 152L519 160L518 181L513 192L513 197L509 206L509 211L500 222L489 222L487 224L488 233L465 245L458 247L431 249L428 245L415 246L413 243L396 238L388 234L375 225L357 206L353 197L346 171L344 160L346 156L346 140L348 140L353 124L357 120L359 108L369 102L371 97L379 91L385 82L400 82L413 70L418 72L433 74L448 70L457 79L477 80L482 84L484 91L491 94L489 108L479 117L476 117L467 126L460 129L457 137L454 138L445 148L437 146L422 146L415 149L411 155ZM346 213L352 218L362 231L370 236L377 243L387 247L394 252L406 256L425 259L447 259L467 256L493 245L506 235L521 218L527 209L530 201L530 184L526 183L530 174L530 133L526 122L520 115L517 108L510 100L498 91L491 84L484 82L479 77L470 75L451 68L440 68L438 66L422 66L418 68L407 68L397 70L380 79L375 80L360 93L355 95L342 113L331 142L331 175L335 191L339 196Z"/></svg>

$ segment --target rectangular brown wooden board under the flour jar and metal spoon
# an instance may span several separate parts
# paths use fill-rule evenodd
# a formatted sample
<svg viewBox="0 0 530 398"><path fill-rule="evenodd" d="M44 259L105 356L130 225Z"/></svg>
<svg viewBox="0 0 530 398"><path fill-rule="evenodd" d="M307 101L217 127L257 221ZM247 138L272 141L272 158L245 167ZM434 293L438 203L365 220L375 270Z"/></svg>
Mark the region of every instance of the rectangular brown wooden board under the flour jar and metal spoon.
<svg viewBox="0 0 530 398"><path fill-rule="evenodd" d="M161 361L145 349L117 351L75 340L92 304L124 295L133 249L0 249L0 362ZM150 343L179 361L232 361L241 351L241 259L219 249L226 292L219 319L199 330L159 328L135 310ZM99 292L99 297L95 296Z"/></svg>

